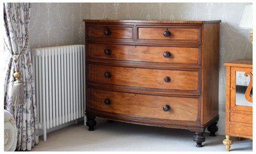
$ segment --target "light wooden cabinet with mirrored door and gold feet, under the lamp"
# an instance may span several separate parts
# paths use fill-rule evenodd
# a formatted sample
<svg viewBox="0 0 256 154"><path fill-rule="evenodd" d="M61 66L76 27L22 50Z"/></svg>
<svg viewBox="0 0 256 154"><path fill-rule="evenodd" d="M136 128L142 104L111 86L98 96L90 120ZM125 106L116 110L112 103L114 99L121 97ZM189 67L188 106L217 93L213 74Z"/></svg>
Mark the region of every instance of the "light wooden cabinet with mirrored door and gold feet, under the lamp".
<svg viewBox="0 0 256 154"><path fill-rule="evenodd" d="M230 150L230 135L252 139L252 60L237 59L226 66L226 139Z"/></svg>

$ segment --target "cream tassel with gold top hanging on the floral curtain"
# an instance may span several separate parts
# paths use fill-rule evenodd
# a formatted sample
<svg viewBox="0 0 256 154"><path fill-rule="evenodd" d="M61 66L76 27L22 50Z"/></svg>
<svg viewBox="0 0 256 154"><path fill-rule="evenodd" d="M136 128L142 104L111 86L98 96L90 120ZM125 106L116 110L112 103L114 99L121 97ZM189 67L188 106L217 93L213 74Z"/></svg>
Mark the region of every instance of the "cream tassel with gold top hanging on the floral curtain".
<svg viewBox="0 0 256 154"><path fill-rule="evenodd" d="M24 84L20 81L20 72L15 68L15 73L13 73L13 77L15 77L15 81L13 82L13 86L10 88L10 93L12 98L12 105L22 105L24 104Z"/></svg>

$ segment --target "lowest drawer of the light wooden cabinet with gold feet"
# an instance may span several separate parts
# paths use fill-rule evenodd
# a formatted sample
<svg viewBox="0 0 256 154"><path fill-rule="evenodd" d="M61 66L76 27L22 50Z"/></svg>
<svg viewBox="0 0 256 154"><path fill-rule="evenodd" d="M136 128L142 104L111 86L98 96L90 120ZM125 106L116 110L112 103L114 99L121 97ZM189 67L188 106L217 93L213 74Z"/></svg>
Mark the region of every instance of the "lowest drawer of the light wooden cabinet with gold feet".
<svg viewBox="0 0 256 154"><path fill-rule="evenodd" d="M252 137L252 126L244 125L243 123L230 123L229 132L236 135L247 135Z"/></svg>

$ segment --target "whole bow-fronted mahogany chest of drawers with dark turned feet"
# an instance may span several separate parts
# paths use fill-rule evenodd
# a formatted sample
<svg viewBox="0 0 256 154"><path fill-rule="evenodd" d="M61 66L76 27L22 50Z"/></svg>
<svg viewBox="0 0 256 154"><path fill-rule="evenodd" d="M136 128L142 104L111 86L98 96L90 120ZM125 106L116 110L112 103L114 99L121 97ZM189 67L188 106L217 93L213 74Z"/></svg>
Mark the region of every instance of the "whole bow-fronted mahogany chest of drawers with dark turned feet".
<svg viewBox="0 0 256 154"><path fill-rule="evenodd" d="M218 130L220 20L83 20L86 125L95 117Z"/></svg>

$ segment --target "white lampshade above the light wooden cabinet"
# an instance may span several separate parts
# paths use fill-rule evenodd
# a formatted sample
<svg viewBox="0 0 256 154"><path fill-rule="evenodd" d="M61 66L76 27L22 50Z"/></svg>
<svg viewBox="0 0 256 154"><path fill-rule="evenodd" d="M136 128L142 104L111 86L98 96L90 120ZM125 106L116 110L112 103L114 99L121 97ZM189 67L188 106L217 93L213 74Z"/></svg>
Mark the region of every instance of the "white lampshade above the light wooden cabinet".
<svg viewBox="0 0 256 154"><path fill-rule="evenodd" d="M246 4L239 27L244 29L252 29L252 8L252 4Z"/></svg>

